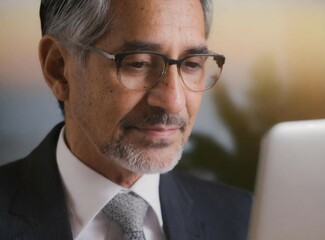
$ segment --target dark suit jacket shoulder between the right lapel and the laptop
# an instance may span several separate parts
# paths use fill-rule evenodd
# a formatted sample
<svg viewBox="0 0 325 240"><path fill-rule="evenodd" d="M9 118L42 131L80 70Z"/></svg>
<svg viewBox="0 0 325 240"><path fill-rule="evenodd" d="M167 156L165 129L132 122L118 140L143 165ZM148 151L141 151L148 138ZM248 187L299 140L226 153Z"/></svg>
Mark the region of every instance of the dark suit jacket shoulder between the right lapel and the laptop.
<svg viewBox="0 0 325 240"><path fill-rule="evenodd" d="M182 172L172 172L170 178L182 195L191 199L192 214L205 223L207 236L218 233L221 239L246 239L252 207L250 192Z"/></svg>

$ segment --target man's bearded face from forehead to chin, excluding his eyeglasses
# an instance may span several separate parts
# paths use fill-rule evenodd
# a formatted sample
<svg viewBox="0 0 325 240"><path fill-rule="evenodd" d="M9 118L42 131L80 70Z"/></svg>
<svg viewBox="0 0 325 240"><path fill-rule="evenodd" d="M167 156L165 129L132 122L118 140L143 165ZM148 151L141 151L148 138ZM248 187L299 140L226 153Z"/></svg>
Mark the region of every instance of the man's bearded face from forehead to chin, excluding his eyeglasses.
<svg viewBox="0 0 325 240"><path fill-rule="evenodd" d="M199 0L119 0L112 28L94 46L108 53L149 50L178 59L205 47ZM177 163L193 127L201 93L187 90L172 65L148 91L123 87L114 61L89 53L66 71L66 137L89 165L115 162L135 173L165 172ZM94 164L101 165L101 164Z"/></svg>

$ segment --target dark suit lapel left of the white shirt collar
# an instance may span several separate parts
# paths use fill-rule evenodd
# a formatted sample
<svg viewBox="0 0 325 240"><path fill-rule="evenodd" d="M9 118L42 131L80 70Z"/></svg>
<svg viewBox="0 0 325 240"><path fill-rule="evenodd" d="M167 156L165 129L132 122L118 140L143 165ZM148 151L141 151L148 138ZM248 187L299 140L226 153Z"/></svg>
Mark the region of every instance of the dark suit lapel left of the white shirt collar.
<svg viewBox="0 0 325 240"><path fill-rule="evenodd" d="M72 239L56 163L57 126L26 159L19 191L11 205L19 219L17 239Z"/></svg>

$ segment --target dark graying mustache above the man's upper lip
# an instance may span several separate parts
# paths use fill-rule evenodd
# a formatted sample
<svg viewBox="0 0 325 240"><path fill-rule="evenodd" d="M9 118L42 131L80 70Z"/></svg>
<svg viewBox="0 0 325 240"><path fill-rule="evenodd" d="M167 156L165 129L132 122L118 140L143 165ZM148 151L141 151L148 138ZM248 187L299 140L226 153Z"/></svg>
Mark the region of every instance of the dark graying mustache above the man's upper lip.
<svg viewBox="0 0 325 240"><path fill-rule="evenodd" d="M185 129L188 125L186 117L180 114L166 113L164 110L150 110L150 112L142 113L138 116L125 116L121 124L124 128L142 127L151 125L166 125L178 126L180 129Z"/></svg>

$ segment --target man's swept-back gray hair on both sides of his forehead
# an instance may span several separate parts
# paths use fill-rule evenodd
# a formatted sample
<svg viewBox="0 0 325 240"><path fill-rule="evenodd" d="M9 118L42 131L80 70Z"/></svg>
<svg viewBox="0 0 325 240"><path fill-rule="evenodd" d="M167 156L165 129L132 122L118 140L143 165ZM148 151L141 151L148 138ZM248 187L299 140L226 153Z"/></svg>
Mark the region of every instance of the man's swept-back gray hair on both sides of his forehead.
<svg viewBox="0 0 325 240"><path fill-rule="evenodd" d="M200 0L205 34L209 35L212 17L212 0ZM112 24L112 0L42 0L40 19L42 34L55 36L58 41L76 54L84 55L79 44L92 44L109 30Z"/></svg>

